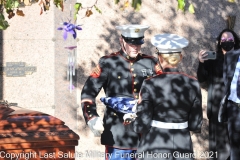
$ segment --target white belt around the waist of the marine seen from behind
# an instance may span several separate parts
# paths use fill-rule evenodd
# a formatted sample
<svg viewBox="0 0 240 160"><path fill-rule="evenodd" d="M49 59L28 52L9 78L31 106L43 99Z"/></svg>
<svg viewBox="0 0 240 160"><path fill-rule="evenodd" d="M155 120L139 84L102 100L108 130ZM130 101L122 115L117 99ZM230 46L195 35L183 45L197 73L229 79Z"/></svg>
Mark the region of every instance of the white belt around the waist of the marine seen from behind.
<svg viewBox="0 0 240 160"><path fill-rule="evenodd" d="M165 129L184 129L184 128L188 128L188 122L166 123L166 122L152 120L151 126L157 127L157 128L165 128Z"/></svg>

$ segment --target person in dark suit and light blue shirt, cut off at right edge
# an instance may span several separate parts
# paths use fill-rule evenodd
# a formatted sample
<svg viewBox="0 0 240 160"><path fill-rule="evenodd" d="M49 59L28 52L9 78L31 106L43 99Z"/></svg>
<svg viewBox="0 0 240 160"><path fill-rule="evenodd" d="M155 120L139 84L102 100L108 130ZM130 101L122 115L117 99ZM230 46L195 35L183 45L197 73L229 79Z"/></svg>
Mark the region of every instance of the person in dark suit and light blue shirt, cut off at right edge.
<svg viewBox="0 0 240 160"><path fill-rule="evenodd" d="M240 49L225 55L223 66L225 96L218 113L219 122L227 122L230 140L230 160L240 158ZM222 105L223 104L223 105Z"/></svg>

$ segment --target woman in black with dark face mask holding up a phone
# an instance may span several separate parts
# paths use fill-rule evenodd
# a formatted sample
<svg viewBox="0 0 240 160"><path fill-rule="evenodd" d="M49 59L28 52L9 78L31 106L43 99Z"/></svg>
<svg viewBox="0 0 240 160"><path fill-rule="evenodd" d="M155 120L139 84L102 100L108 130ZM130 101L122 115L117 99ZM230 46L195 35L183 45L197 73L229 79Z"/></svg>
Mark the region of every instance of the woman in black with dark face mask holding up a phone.
<svg viewBox="0 0 240 160"><path fill-rule="evenodd" d="M218 122L218 111L221 99L224 96L224 57L227 52L239 48L238 35L230 29L224 29L217 37L217 58L215 60L206 59L207 55L204 50L201 50L198 55L197 78L201 87L208 92L209 153L213 154L211 160L229 159L230 145L227 125Z"/></svg>

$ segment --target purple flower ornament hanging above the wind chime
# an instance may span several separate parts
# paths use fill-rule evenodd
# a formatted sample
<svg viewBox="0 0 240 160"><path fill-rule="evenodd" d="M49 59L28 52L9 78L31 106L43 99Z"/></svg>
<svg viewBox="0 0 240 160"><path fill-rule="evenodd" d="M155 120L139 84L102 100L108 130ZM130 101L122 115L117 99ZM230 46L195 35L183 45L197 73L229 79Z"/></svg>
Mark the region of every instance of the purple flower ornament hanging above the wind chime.
<svg viewBox="0 0 240 160"><path fill-rule="evenodd" d="M77 37L77 33L75 29L77 30L82 30L80 27L81 25L74 25L72 23L64 22L63 27L59 27L58 30L63 30L63 39L67 39L67 34L70 33L73 35L73 38L75 39Z"/></svg>

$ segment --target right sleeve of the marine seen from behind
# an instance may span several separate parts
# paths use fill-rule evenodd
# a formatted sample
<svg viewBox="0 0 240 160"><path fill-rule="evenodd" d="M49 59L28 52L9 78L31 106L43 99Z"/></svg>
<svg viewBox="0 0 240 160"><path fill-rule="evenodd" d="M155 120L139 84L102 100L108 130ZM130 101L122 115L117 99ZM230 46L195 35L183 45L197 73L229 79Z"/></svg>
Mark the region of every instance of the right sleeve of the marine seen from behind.
<svg viewBox="0 0 240 160"><path fill-rule="evenodd" d="M202 93L198 82L195 83L196 92L193 97L193 104L189 112L188 127L190 131L201 132L202 121L203 121L203 111L202 111Z"/></svg>

